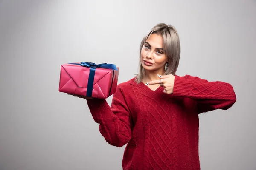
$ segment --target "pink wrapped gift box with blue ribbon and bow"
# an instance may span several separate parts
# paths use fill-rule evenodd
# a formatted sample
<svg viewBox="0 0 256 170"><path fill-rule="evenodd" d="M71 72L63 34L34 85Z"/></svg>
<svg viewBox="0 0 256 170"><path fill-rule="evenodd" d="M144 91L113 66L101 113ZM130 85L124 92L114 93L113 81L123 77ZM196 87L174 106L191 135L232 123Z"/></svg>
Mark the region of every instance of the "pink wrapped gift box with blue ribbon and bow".
<svg viewBox="0 0 256 170"><path fill-rule="evenodd" d="M59 91L106 99L116 91L119 68L114 64L74 62L61 65Z"/></svg>

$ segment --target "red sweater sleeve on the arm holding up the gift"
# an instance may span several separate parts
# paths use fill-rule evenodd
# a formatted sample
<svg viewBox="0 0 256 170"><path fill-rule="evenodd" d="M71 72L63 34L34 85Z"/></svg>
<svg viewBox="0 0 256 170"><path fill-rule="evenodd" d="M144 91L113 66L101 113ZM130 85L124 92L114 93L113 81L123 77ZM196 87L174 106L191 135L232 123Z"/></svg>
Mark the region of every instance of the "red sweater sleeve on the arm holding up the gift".
<svg viewBox="0 0 256 170"><path fill-rule="evenodd" d="M111 107L105 99L88 99L88 107L105 140L122 147L131 139L130 113L119 86L113 94Z"/></svg>

